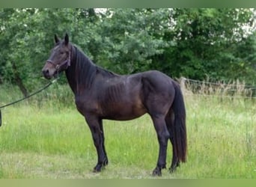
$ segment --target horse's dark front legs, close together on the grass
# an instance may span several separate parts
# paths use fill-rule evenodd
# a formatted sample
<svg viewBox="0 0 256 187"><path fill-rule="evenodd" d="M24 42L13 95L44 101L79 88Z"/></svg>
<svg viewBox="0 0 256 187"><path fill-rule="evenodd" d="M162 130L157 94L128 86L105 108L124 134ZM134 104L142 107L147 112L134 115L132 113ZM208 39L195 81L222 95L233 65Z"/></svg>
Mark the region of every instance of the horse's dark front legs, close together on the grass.
<svg viewBox="0 0 256 187"><path fill-rule="evenodd" d="M103 132L103 121L98 117L85 117L88 126L91 130L91 135L94 140L94 146L97 150L98 162L94 167L94 172L102 170L103 166L108 164L108 158L106 156L106 150L104 145L104 132Z"/></svg>

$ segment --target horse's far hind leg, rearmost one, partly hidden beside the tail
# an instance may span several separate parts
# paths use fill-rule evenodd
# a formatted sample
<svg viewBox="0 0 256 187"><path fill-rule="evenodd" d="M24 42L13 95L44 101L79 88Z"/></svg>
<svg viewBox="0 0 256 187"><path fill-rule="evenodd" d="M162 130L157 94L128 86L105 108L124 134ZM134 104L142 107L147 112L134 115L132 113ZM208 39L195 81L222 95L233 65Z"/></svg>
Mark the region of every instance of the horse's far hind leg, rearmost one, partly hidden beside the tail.
<svg viewBox="0 0 256 187"><path fill-rule="evenodd" d="M171 109L168 111L168 114L165 117L165 123L170 134L170 141L172 145L172 160L171 167L169 168L169 171L172 173L180 165L180 161L177 157L177 150L174 147L174 113L171 111Z"/></svg>

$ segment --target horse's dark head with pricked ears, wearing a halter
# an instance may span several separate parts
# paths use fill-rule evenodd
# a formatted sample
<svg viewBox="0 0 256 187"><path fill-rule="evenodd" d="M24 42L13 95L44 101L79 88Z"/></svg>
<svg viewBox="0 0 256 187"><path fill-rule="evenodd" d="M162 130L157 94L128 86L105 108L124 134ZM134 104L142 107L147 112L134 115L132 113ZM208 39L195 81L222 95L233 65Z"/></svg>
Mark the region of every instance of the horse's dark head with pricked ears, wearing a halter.
<svg viewBox="0 0 256 187"><path fill-rule="evenodd" d="M58 75L70 66L71 44L69 43L68 35L66 34L64 40L59 40L55 34L55 47L46 64L43 67L43 76L46 79Z"/></svg>

